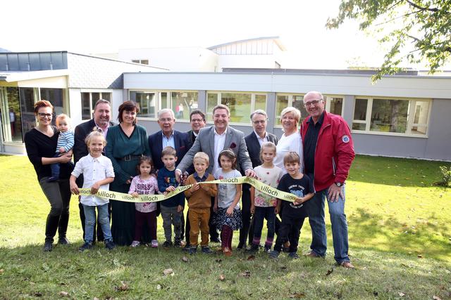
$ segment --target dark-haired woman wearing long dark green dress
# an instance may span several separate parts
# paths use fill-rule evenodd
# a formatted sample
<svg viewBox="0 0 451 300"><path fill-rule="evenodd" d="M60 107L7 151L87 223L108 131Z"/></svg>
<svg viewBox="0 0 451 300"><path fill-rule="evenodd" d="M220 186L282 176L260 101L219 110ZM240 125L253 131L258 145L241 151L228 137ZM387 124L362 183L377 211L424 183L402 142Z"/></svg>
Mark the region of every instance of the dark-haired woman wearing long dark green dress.
<svg viewBox="0 0 451 300"><path fill-rule="evenodd" d="M119 106L119 124L110 127L106 134L105 154L111 162L115 178L110 190L128 193L136 166L142 155L150 155L146 129L136 124L137 104L125 101ZM132 243L135 230L135 204L111 201L111 234L118 245Z"/></svg>

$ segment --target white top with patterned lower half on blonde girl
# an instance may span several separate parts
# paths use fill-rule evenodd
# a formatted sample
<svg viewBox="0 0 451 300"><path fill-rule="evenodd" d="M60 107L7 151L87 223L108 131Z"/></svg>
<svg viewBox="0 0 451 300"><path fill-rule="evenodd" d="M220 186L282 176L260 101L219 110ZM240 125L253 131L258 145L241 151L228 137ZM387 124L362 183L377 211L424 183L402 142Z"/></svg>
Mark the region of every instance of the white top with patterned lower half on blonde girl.
<svg viewBox="0 0 451 300"><path fill-rule="evenodd" d="M254 169L257 174L257 179L262 183L265 183L273 188L277 188L280 182L280 178L283 176L283 170L277 166L271 169L264 168L263 166L256 167ZM254 205L256 207L276 207L277 199L271 195L265 194L255 189Z"/></svg>

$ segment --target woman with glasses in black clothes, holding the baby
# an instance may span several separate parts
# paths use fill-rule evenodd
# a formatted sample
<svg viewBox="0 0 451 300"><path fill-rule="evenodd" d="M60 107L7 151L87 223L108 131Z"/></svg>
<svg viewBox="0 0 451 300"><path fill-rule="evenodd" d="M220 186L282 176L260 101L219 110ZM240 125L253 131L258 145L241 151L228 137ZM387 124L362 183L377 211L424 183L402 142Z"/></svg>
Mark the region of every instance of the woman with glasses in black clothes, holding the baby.
<svg viewBox="0 0 451 300"><path fill-rule="evenodd" d="M50 212L47 215L45 226L44 252L53 249L54 236L58 229L58 244L69 244L66 238L66 231L69 221L70 189L69 177L72 168L70 162L72 150L54 157L56 144L58 143L59 131L55 126L51 126L51 117L54 107L47 100L40 100L35 103L35 117L37 126L25 133L25 148L28 159L35 167L37 180L41 185L44 195L50 203ZM60 180L47 182L51 176L50 164L61 164Z"/></svg>

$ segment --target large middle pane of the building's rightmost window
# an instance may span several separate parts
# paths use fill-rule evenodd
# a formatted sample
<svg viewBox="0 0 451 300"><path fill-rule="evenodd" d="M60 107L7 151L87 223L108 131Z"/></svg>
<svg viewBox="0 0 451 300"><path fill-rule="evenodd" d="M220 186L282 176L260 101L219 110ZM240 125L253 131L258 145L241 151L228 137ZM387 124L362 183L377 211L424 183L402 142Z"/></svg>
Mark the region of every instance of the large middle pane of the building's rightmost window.
<svg viewBox="0 0 451 300"><path fill-rule="evenodd" d="M373 99L371 108L371 131L406 132L408 100Z"/></svg>

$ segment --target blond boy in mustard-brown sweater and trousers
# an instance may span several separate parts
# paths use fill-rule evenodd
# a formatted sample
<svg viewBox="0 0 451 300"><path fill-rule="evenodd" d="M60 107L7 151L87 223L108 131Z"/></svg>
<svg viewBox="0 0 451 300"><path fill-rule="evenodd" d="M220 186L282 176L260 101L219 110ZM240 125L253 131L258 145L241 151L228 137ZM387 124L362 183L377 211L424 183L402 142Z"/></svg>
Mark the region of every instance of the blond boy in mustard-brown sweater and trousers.
<svg viewBox="0 0 451 300"><path fill-rule="evenodd" d="M202 253L212 254L209 248L209 219L211 208L211 197L215 197L218 193L216 184L199 184L203 181L214 181L214 176L206 173L209 167L209 156L204 152L197 152L194 155L194 174L187 178L185 184L194 184L192 188L185 190L185 196L188 199L188 207L190 208L190 254L197 252L197 242L199 239L199 228L201 232Z"/></svg>

